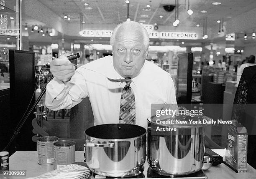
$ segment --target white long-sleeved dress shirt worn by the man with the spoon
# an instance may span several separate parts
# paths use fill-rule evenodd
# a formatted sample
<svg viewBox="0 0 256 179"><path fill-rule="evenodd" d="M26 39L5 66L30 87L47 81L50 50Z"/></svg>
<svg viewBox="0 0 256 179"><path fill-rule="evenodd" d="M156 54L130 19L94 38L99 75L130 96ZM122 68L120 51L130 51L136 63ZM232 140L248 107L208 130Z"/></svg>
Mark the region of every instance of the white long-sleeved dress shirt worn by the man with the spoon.
<svg viewBox="0 0 256 179"><path fill-rule="evenodd" d="M95 125L119 123L120 98L126 83L111 82L107 77L123 78L115 71L112 56L79 67L66 84L54 78L47 85L46 106L52 110L70 109L89 96ZM146 61L132 81L137 125L147 128L151 104L174 104L171 108L177 108L172 77L157 65Z"/></svg>

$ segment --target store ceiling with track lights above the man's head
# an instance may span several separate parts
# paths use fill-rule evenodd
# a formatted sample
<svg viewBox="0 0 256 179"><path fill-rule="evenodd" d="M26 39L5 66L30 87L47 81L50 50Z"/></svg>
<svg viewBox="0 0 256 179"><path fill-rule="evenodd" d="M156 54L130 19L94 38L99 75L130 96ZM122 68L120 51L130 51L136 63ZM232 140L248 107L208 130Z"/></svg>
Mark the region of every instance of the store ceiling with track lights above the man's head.
<svg viewBox="0 0 256 179"><path fill-rule="evenodd" d="M80 17L87 24L118 24L127 18L127 4L125 0L38 0L51 9L61 18L67 15L71 18L68 23L80 23ZM221 2L221 5L212 5L212 2ZM84 6L84 3L89 4ZM150 8L146 8L150 5ZM166 12L163 5L175 5L175 0L130 0L129 17L131 20L144 24L172 25L174 10ZM194 13L187 14L188 0L179 0L180 24L186 27L202 26L207 17L207 27L215 26L217 20L228 20L256 8L255 0L189 0L190 9ZM89 9L90 10L89 10ZM145 11L143 9L150 9ZM200 11L206 10L207 13ZM159 16L162 15L163 18Z"/></svg>

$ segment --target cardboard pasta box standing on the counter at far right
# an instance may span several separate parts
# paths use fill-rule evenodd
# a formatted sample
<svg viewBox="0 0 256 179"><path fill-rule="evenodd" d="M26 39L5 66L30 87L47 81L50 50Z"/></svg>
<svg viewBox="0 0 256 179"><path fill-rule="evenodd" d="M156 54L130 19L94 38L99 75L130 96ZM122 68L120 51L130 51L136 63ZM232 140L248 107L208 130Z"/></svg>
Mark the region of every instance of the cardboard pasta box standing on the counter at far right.
<svg viewBox="0 0 256 179"><path fill-rule="evenodd" d="M238 172L247 171L247 130L236 121L228 124L225 162Z"/></svg>

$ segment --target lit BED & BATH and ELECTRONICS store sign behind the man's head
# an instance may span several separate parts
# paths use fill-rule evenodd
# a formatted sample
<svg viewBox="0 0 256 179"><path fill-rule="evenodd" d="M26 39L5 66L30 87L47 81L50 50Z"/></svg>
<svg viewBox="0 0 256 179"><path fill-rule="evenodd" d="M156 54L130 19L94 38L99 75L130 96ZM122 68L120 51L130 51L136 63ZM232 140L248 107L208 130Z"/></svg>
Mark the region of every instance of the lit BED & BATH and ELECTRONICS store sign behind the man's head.
<svg viewBox="0 0 256 179"><path fill-rule="evenodd" d="M148 28L151 28L150 26ZM84 37L111 37L112 32L113 30L82 30L79 34ZM148 30L148 36L150 39L196 40L198 38L197 33L194 32L157 32L152 30Z"/></svg>

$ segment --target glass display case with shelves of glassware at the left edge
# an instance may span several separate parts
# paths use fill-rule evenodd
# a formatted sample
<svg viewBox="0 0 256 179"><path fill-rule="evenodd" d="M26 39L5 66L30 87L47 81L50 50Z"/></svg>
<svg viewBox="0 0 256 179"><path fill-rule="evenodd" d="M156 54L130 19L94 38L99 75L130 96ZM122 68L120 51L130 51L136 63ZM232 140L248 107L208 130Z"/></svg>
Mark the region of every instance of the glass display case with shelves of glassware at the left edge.
<svg viewBox="0 0 256 179"><path fill-rule="evenodd" d="M0 0L0 90L9 85L9 50L21 50L20 0Z"/></svg>

